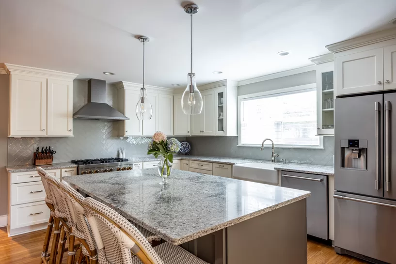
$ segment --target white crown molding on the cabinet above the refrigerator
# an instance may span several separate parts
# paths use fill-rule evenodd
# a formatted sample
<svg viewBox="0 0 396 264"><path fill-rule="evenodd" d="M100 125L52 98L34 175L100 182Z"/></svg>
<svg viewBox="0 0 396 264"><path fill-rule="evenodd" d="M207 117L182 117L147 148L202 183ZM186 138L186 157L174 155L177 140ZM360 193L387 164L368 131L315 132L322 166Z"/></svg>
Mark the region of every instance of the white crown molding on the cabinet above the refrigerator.
<svg viewBox="0 0 396 264"><path fill-rule="evenodd" d="M381 41L386 41L396 38L396 29L388 29L379 32L374 32L359 36L356 38L351 38L345 41L337 42L331 45L325 46L330 52L337 53L345 51L352 48L363 47L370 44L378 43Z"/></svg>

